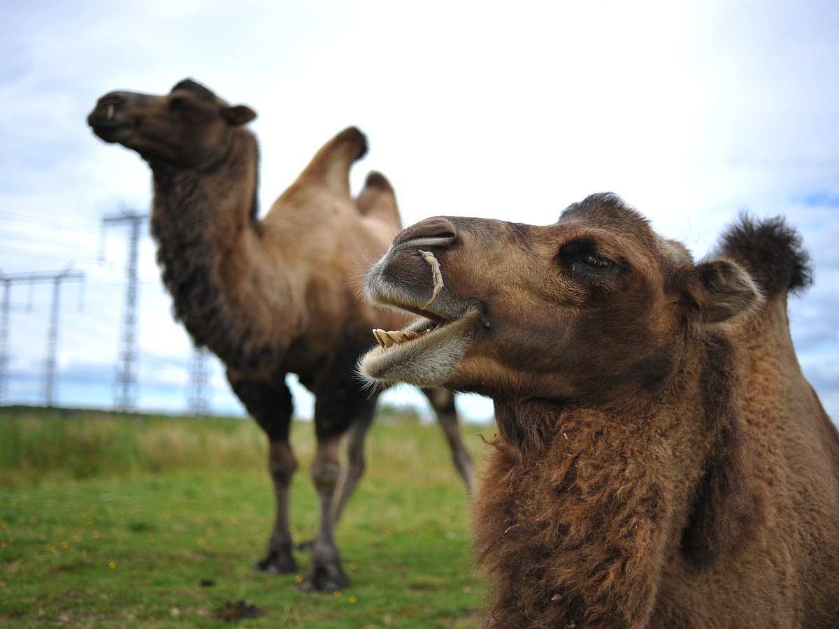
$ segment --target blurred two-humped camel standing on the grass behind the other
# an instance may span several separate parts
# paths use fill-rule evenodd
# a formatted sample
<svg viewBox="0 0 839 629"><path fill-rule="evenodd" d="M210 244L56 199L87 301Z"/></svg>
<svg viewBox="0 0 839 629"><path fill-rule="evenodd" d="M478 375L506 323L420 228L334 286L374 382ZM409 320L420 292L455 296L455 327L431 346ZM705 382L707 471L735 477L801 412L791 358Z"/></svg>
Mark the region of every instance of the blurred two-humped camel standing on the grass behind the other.
<svg viewBox="0 0 839 629"><path fill-rule="evenodd" d="M320 496L320 530L303 590L347 586L333 529L363 470L363 441L376 395L358 379L358 356L382 317L362 298L364 273L400 229L393 190L372 173L356 201L349 169L367 141L347 128L312 159L268 215L257 217L258 148L244 125L256 114L194 81L165 96L112 92L88 122L97 136L149 163L154 179L152 233L158 262L181 320L197 346L227 366L227 378L268 434L276 522L258 569L294 572L289 483L292 398L287 373L315 394L317 453L311 474ZM451 393L425 390L472 487L472 460L461 443ZM341 472L339 441L347 439Z"/></svg>

